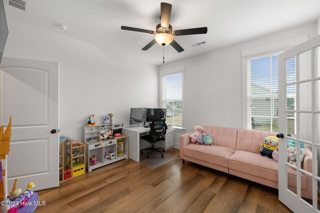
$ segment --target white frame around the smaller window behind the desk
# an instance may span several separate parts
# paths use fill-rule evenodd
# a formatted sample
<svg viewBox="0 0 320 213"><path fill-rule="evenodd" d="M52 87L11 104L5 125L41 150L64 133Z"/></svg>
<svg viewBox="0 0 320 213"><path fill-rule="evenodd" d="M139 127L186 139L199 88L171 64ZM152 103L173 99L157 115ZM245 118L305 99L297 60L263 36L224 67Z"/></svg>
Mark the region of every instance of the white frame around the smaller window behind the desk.
<svg viewBox="0 0 320 213"><path fill-rule="evenodd" d="M179 67L174 67L171 69L165 69L165 70L160 70L159 71L159 108L163 108L163 100L162 100L162 78L166 75L173 75L177 73L182 73L182 124L181 127L179 126L174 126L175 129L184 129L185 126L185 95L184 95L184 85L185 85L185 80L184 80L184 66L179 66Z"/></svg>

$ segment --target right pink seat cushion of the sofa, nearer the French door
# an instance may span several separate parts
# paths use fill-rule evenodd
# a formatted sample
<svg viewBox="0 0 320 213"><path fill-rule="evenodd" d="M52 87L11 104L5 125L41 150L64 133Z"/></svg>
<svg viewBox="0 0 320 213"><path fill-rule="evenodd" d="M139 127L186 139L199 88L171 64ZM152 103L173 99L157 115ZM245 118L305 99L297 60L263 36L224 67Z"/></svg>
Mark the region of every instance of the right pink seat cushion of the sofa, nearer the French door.
<svg viewBox="0 0 320 213"><path fill-rule="evenodd" d="M278 162L257 153L235 150L229 157L229 169L278 182ZM296 187L296 172L288 167L288 185ZM301 173L301 189L306 189L305 175Z"/></svg>

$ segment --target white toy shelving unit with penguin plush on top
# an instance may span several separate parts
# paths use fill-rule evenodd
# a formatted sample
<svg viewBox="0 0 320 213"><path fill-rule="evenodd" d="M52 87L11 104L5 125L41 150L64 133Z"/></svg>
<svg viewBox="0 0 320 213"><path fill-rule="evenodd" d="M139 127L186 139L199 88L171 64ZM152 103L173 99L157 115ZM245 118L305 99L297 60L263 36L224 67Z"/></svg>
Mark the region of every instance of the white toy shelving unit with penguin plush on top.
<svg viewBox="0 0 320 213"><path fill-rule="evenodd" d="M120 133L120 137L114 137L109 140L99 140L100 131L112 131L114 133ZM128 158L128 137L123 135L123 123L114 124L101 124L96 126L85 126L83 128L83 140L85 141L85 168L88 172L93 169L120 161ZM117 142L123 141L123 156L117 156ZM110 160L104 158L104 153L109 151L114 152L115 158ZM95 155L97 157L96 164L90 166L90 158Z"/></svg>

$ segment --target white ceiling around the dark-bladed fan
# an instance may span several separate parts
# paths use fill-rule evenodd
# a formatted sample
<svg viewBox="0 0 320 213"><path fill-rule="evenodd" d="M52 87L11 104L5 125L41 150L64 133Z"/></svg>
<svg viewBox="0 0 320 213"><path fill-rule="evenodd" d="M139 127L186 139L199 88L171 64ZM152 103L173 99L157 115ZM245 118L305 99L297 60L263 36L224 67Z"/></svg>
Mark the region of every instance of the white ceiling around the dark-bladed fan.
<svg viewBox="0 0 320 213"><path fill-rule="evenodd" d="M26 0L27 11L5 2L6 15L84 42L118 51L146 63L161 65L162 46L141 48L154 35L121 30L131 26L155 30L160 0ZM173 30L207 26L207 34L175 36L184 48L164 47L165 62L203 54L274 31L315 22L320 0L165 0L172 4ZM56 25L65 24L67 30ZM192 47L191 44L206 41Z"/></svg>

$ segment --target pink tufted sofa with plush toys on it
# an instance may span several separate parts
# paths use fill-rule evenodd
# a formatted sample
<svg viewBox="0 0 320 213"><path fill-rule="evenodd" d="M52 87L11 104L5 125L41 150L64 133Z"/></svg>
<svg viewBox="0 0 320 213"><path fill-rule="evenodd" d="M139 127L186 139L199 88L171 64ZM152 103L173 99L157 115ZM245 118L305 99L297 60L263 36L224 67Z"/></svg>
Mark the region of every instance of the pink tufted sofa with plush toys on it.
<svg viewBox="0 0 320 213"><path fill-rule="evenodd" d="M278 163L259 154L262 138L275 133L253 130L203 126L202 133L212 136L213 146L191 143L187 133L180 136L180 158L244 178L265 186L278 188ZM302 168L311 172L312 153L304 147ZM288 188L296 192L295 170L288 167ZM312 198L312 181L301 173L301 196Z"/></svg>

